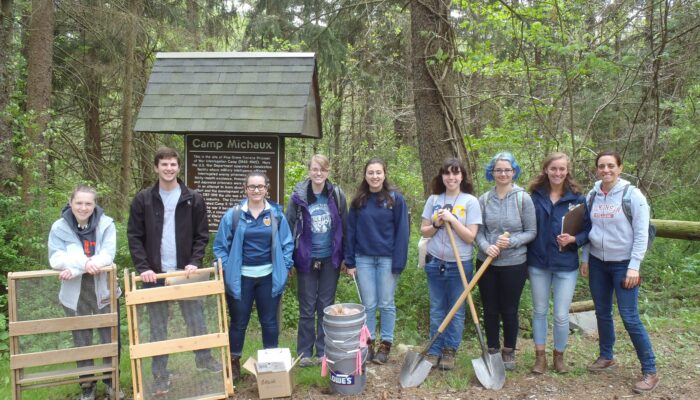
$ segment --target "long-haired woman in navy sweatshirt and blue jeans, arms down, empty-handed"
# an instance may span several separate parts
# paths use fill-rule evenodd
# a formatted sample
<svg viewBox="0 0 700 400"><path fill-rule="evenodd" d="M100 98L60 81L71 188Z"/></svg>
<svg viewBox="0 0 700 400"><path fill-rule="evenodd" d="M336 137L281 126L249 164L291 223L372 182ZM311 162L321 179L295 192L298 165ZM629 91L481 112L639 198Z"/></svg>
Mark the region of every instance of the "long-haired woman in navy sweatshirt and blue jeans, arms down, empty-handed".
<svg viewBox="0 0 700 400"><path fill-rule="evenodd" d="M357 274L367 313L368 358L385 364L394 342L394 291L406 266L409 227L406 201L386 180L383 160L373 158L365 165L364 179L350 203L347 222L345 265L348 274ZM374 356L377 308L381 315L381 343Z"/></svg>

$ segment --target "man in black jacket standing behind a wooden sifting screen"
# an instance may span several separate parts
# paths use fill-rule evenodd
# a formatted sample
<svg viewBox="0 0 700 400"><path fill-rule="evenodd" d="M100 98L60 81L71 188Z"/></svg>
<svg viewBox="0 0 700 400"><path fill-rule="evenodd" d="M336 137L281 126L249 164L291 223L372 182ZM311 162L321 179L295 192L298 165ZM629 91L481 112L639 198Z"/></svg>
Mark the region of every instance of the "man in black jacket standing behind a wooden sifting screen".
<svg viewBox="0 0 700 400"><path fill-rule="evenodd" d="M202 265L209 242L207 208L201 194L177 178L180 157L170 148L160 148L153 160L158 182L144 189L131 203L127 237L134 267L141 274L144 288L163 286L157 273L175 270L190 272ZM200 300L182 300L180 311L189 336L207 333ZM168 302L149 303L151 342L168 338ZM221 372L209 350L195 351L197 369ZM154 394L169 391L168 356L155 356L152 362Z"/></svg>

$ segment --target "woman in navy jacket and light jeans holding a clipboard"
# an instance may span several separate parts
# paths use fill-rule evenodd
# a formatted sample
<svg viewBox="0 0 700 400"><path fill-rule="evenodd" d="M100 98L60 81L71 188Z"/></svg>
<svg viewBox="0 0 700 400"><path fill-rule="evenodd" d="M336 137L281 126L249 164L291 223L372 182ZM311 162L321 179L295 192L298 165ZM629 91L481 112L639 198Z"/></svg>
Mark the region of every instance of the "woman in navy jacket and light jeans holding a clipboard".
<svg viewBox="0 0 700 400"><path fill-rule="evenodd" d="M569 340L569 305L578 278L578 249L588 241L590 220L576 236L562 234L562 217L576 206L586 207L586 198L571 176L571 162L564 153L552 153L542 163L542 172L530 183L529 191L537 217L537 236L528 245L527 265L532 289L532 330L535 365L532 372L547 367L547 313L549 293L554 302L554 370L568 372L564 350Z"/></svg>

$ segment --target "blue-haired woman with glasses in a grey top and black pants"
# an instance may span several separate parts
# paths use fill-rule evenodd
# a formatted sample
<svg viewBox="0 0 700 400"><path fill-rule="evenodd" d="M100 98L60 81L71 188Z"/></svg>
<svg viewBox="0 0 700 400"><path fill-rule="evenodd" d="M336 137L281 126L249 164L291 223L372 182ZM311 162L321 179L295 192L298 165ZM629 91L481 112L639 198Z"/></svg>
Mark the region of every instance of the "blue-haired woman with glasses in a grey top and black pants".
<svg viewBox="0 0 700 400"><path fill-rule="evenodd" d="M477 269L487 257L494 268L479 280L489 351L501 352L506 369L515 369L518 307L527 279L527 244L537 235L530 195L513 183L520 166L509 152L496 154L486 166L486 180L496 185L479 197L484 224L476 235ZM510 233L510 237L504 235ZM503 321L503 348L499 339Z"/></svg>

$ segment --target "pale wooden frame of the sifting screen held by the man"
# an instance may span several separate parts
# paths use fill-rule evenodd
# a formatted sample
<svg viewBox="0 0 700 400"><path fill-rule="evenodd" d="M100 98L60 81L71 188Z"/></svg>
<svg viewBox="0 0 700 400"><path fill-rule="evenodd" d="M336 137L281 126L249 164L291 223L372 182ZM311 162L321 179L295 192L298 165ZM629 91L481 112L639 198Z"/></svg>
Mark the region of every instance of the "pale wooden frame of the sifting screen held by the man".
<svg viewBox="0 0 700 400"><path fill-rule="evenodd" d="M226 399L233 396L234 388L231 372L231 355L228 341L228 322L226 319L226 298L221 265L212 268L201 268L197 270L197 273L213 274L213 279L206 281L195 280L193 283L181 283L172 286L144 289L136 287L138 282L142 282L139 275L136 275L134 272L129 274L128 271L124 271L126 311L129 326L129 356L131 358L131 376L134 386L134 400L143 400L145 398L141 359L158 355L203 349L221 349L221 362L223 363L221 373L224 380L225 392L221 395L200 396L194 397L194 399ZM186 275L187 272L180 270L156 274L156 278L183 278ZM187 300L206 296L216 296L218 332L200 336L189 336L179 339L141 343L138 327L137 306L160 301Z"/></svg>

